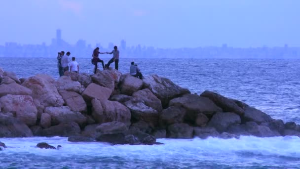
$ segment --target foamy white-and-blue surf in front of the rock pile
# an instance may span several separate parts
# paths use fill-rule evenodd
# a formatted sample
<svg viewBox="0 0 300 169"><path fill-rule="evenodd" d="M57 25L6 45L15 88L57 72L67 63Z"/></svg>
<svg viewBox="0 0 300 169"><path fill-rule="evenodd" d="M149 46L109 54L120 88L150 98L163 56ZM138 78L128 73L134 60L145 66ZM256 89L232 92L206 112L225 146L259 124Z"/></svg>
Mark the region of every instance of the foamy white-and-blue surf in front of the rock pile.
<svg viewBox="0 0 300 169"><path fill-rule="evenodd" d="M17 162L15 167L31 166L69 168L102 166L107 168L145 167L293 167L300 160L300 138L296 136L240 139L158 139L164 145L115 145L107 143L71 143L65 137L1 138L7 148L0 152L1 167ZM39 142L61 145L60 150L38 149ZM18 162L22 161L21 164ZM280 162L280 164L278 164ZM4 165L4 166L2 166ZM33 166L31 166L33 167ZM57 167L57 166L56 166Z"/></svg>

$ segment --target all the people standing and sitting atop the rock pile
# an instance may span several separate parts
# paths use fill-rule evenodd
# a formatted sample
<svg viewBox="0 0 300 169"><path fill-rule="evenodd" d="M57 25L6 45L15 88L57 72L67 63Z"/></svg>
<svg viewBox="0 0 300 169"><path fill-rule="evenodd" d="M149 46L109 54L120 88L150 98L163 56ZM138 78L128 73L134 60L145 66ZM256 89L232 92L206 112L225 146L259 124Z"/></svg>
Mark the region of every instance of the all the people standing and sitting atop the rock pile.
<svg viewBox="0 0 300 169"><path fill-rule="evenodd" d="M99 58L99 54L113 54L112 59L109 60L107 64L104 64L104 61ZM118 70L118 64L119 64L119 50L117 46L113 47L113 50L111 52L100 52L99 47L96 47L92 54L92 64L95 65L94 73L97 73L98 69L98 63L102 63L103 69L108 69L110 65L114 62L114 68ZM75 61L75 57L72 57L72 61L69 60L69 56L71 55L71 52L67 52L65 55L64 51L58 52L57 56L57 67L59 76L63 76L66 71L76 72L79 73L79 64ZM143 75L138 68L138 65L134 62L131 62L130 66L130 75L143 79Z"/></svg>

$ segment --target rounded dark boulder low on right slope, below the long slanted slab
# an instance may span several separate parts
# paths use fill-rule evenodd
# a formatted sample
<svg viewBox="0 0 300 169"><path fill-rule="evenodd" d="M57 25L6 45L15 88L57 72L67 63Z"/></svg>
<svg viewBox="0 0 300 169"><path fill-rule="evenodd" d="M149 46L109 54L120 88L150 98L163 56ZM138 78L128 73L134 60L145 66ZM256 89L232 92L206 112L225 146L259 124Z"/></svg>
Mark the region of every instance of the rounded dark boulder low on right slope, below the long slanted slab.
<svg viewBox="0 0 300 169"><path fill-rule="evenodd" d="M217 131L223 132L227 129L227 127L235 124L240 124L241 118L239 115L235 113L216 113L210 122L208 123L209 127L215 127Z"/></svg>

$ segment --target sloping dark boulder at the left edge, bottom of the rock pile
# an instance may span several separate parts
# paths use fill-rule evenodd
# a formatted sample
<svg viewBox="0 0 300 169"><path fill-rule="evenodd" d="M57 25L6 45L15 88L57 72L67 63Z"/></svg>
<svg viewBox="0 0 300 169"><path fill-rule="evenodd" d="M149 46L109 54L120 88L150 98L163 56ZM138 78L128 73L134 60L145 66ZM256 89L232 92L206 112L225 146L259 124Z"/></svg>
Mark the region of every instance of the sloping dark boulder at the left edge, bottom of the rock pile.
<svg viewBox="0 0 300 169"><path fill-rule="evenodd" d="M10 113L0 113L0 137L31 137L32 131L27 125L14 118Z"/></svg>

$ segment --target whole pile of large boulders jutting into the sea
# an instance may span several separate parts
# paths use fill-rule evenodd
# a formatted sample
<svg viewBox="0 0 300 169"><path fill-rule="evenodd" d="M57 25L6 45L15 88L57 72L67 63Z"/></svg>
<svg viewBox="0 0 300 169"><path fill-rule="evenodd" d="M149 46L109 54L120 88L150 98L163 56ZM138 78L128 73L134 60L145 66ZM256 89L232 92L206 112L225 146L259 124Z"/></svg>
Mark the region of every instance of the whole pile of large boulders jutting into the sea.
<svg viewBox="0 0 300 169"><path fill-rule="evenodd" d="M0 137L64 136L70 141L158 144L156 138L297 135L284 123L212 91L191 94L157 75L143 80L116 70L66 72L0 84Z"/></svg>

